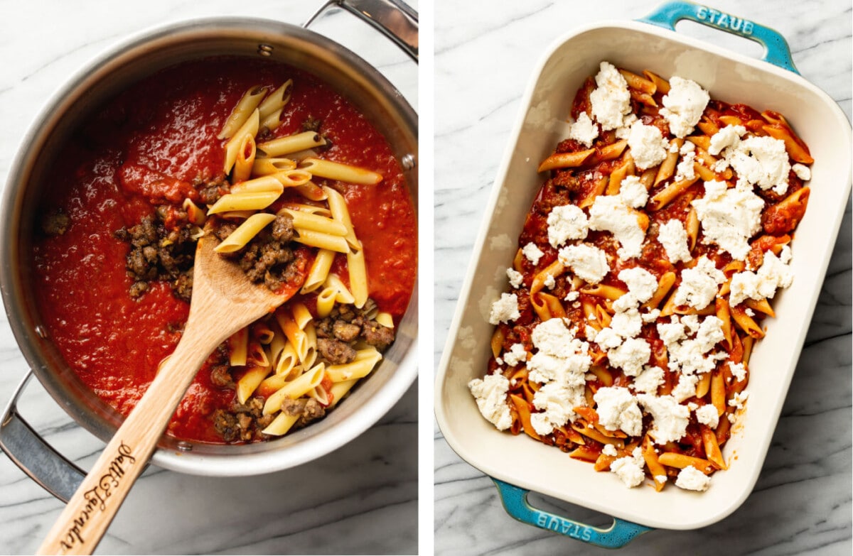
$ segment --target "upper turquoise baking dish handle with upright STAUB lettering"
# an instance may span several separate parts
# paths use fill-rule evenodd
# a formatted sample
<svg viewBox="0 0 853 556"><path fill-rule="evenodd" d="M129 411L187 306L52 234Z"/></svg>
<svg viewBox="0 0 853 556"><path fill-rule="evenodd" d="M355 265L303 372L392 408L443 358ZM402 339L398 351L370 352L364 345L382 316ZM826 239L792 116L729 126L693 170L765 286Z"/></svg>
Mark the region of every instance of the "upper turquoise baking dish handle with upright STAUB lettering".
<svg viewBox="0 0 853 556"><path fill-rule="evenodd" d="M745 20L732 14L709 8L692 2L668 2L661 4L651 14L639 21L652 25L676 30L676 23L681 20L691 20L705 26L730 32L739 37L748 38L764 47L763 61L781 67L799 75L791 58L791 49L779 32L759 25L754 21Z"/></svg>

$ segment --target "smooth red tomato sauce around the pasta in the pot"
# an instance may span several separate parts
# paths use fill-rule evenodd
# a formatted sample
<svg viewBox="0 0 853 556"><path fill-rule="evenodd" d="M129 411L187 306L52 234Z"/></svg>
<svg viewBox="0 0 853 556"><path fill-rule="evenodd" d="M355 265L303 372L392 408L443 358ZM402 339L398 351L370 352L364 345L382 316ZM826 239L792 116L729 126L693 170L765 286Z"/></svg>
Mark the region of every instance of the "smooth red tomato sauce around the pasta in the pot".
<svg viewBox="0 0 853 556"><path fill-rule="evenodd" d="M293 97L274 136L320 119L334 143L322 158L379 172L382 182L328 182L344 194L363 242L368 286L380 310L398 320L417 267L416 215L403 171L385 138L342 96L305 72L269 61L212 59L166 69L133 85L87 120L52 171L43 211L70 219L62 235L38 235L33 264L39 309L68 365L99 397L129 414L181 337L189 304L165 283L130 297L128 244L113 232L162 204L198 200L203 182L222 174L219 130L243 93L293 78ZM322 182L322 180L315 180ZM38 225L36 226L38 228ZM335 268L345 277L345 257ZM173 437L222 443L210 416L235 391L212 384L207 365L168 426Z"/></svg>

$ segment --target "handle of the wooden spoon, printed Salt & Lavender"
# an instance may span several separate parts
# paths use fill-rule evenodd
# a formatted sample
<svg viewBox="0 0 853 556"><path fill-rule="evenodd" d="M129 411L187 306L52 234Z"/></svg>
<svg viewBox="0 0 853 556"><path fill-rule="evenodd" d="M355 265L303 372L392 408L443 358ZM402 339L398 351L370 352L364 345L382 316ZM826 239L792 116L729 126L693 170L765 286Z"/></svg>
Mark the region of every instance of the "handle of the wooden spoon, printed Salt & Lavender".
<svg viewBox="0 0 853 556"><path fill-rule="evenodd" d="M38 554L91 554L95 550L148 464L195 373L219 341L186 328L174 353L163 362L148 391L56 519Z"/></svg>

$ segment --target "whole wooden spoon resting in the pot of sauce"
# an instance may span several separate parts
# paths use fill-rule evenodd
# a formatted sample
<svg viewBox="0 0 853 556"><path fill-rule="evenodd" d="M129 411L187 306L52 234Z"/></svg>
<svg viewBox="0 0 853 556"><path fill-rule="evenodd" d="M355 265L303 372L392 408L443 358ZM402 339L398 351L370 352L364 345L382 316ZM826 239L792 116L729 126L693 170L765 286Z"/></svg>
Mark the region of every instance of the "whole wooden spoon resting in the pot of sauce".
<svg viewBox="0 0 853 556"><path fill-rule="evenodd" d="M207 357L231 334L275 310L301 287L299 283L273 293L264 284L252 284L236 264L213 252L214 246L216 240L205 235L196 247L193 296L181 341L68 501L39 554L95 550ZM304 280L302 272L299 282Z"/></svg>

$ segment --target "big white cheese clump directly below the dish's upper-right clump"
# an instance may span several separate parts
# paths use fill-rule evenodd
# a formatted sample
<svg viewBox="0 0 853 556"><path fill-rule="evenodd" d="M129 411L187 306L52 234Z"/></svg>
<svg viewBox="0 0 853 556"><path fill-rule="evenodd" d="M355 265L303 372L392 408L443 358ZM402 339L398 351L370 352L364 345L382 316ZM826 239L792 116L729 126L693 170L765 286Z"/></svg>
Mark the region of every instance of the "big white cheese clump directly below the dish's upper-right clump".
<svg viewBox="0 0 853 556"><path fill-rule="evenodd" d="M749 252L748 240L761 229L764 200L749 185L738 182L705 182L705 196L693 200L706 242L714 242L732 257L743 260Z"/></svg>

